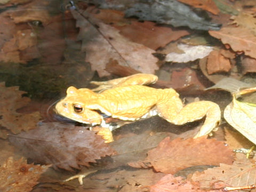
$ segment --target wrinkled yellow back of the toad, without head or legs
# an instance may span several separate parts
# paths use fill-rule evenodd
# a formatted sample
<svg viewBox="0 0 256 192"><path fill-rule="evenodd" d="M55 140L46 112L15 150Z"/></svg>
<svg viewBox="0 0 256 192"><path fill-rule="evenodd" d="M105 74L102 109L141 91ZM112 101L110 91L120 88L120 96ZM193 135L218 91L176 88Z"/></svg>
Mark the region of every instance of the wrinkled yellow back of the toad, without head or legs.
<svg viewBox="0 0 256 192"><path fill-rule="evenodd" d="M167 94L163 94L165 92ZM165 98L170 99L172 96L172 89L163 90L143 85L130 85L103 91L98 94L97 102L113 117L139 118L157 103Z"/></svg>

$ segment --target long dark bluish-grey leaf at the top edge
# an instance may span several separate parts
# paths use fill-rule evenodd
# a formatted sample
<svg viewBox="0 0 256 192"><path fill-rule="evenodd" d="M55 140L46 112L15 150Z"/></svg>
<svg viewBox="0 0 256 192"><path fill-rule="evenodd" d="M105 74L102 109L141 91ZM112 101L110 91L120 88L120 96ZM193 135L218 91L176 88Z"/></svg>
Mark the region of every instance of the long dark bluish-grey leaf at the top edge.
<svg viewBox="0 0 256 192"><path fill-rule="evenodd" d="M194 13L189 6L175 0L134 4L133 7L125 11L125 16L135 16L142 21L156 21L174 27L188 26L191 29L219 30L218 24L206 21Z"/></svg>

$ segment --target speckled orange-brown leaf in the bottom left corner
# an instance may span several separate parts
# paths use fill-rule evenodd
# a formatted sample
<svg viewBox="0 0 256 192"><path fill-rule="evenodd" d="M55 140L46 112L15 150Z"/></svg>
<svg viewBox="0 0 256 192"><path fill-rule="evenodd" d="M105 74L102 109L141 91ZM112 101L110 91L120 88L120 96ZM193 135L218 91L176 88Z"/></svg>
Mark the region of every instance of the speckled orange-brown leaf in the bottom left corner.
<svg viewBox="0 0 256 192"><path fill-rule="evenodd" d="M31 191L48 167L49 165L27 164L23 158L13 161L10 157L0 167L0 191Z"/></svg>

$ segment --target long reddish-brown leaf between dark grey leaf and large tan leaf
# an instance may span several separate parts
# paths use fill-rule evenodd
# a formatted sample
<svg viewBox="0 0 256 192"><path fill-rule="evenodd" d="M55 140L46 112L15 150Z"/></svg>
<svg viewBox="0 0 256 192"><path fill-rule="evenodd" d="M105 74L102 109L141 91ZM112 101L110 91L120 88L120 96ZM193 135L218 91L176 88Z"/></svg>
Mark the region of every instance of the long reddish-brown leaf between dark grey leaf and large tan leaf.
<svg viewBox="0 0 256 192"><path fill-rule="evenodd" d="M95 12L95 9L93 11ZM138 22L131 19L128 20L124 18L123 12L117 10L98 10L94 16L106 24L117 28L124 37L153 50L164 47L166 44L176 41L182 36L189 35L187 30L159 26L151 21Z"/></svg>

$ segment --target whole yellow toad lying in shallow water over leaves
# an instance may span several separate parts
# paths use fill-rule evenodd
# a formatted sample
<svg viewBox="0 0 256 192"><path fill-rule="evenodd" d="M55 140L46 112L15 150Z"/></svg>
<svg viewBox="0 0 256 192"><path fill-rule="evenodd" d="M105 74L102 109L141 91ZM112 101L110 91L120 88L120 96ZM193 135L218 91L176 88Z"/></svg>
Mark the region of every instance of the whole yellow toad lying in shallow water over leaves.
<svg viewBox="0 0 256 192"><path fill-rule="evenodd" d="M59 115L74 121L92 126L101 125L98 134L103 135L106 142L113 141L111 127L107 127L98 111L124 121L136 121L159 115L176 125L194 122L206 116L195 138L217 129L221 113L216 103L197 101L183 106L179 94L174 89L145 86L156 81L155 75L135 74L106 82L91 82L100 85L94 90L70 86L67 89L67 96L57 103L55 109ZM94 92L99 90L103 91Z"/></svg>

